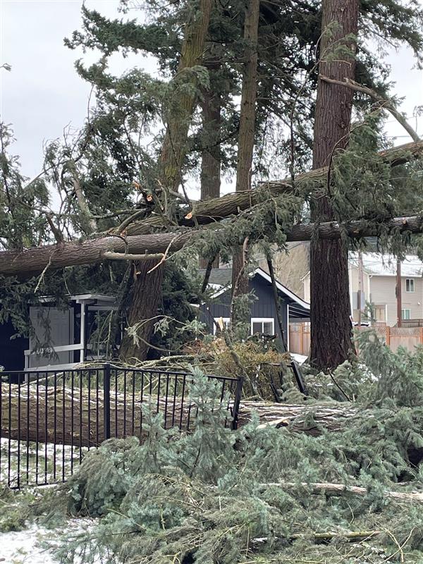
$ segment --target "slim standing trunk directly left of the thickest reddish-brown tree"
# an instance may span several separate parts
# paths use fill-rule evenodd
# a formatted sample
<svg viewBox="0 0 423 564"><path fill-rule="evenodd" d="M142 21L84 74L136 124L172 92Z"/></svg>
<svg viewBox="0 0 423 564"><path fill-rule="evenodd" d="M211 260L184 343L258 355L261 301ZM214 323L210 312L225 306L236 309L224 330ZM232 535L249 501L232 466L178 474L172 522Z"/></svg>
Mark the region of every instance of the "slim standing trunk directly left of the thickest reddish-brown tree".
<svg viewBox="0 0 423 564"><path fill-rule="evenodd" d="M236 167L236 192L251 189L252 154L255 141L255 114L257 99L257 44L259 39L260 0L250 0L245 12L244 39L247 42L243 87L241 90L240 131L238 134L238 162ZM245 271L246 250L235 248L232 261L232 295L248 292L248 277ZM233 308L232 321L237 319L237 308Z"/></svg>

